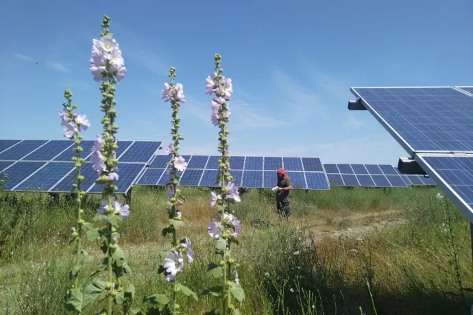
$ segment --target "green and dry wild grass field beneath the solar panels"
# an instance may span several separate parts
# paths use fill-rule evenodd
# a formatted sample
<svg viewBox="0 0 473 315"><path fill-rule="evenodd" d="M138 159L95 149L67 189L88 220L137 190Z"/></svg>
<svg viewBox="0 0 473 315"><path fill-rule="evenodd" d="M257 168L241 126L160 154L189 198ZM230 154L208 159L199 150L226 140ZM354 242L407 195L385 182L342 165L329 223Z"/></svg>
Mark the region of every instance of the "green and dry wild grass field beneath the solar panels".
<svg viewBox="0 0 473 315"><path fill-rule="evenodd" d="M437 192L293 190L288 223L276 215L274 193L243 191L234 206L242 220L241 240L232 254L241 262L242 314L469 314L470 225L450 201L438 201ZM199 301L180 296L180 305L183 314L203 314L217 306L216 299L202 295L213 281L206 276L215 259L207 226L215 210L208 207L210 190L183 188L183 193L187 225L179 235L191 238L195 261L180 281L199 293ZM0 192L0 314L67 314L64 293L73 265L69 229L75 221L74 203L67 197ZM88 222L98 198L86 199ZM130 218L120 230L136 305L143 308L139 302L145 295L168 288L158 275L159 252L169 247L161 235L165 201L163 188L134 188ZM103 259L96 245L85 241L84 246L83 284ZM100 308L89 305L84 314Z"/></svg>

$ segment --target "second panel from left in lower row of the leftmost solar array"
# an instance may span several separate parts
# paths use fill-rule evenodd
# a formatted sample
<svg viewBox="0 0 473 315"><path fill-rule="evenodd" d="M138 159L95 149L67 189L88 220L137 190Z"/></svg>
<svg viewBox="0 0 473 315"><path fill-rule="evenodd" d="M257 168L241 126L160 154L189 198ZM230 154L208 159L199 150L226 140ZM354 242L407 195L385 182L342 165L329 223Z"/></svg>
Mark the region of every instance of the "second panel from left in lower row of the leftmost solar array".
<svg viewBox="0 0 473 315"><path fill-rule="evenodd" d="M14 190L48 191L49 188L55 186L62 177L72 171L73 168L74 164L72 162L48 163L45 167L34 173L32 177L29 177L27 180L23 181L23 183L19 184L19 186L16 186Z"/></svg>

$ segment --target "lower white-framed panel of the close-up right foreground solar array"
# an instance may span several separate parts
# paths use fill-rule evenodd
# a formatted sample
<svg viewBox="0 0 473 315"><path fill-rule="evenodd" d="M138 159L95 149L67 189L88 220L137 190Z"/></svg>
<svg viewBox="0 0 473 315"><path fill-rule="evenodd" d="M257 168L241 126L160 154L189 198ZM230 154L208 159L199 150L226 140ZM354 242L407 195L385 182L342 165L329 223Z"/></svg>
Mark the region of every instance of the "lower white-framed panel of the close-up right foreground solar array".
<svg viewBox="0 0 473 315"><path fill-rule="evenodd" d="M473 221L473 156L416 154L415 161Z"/></svg>

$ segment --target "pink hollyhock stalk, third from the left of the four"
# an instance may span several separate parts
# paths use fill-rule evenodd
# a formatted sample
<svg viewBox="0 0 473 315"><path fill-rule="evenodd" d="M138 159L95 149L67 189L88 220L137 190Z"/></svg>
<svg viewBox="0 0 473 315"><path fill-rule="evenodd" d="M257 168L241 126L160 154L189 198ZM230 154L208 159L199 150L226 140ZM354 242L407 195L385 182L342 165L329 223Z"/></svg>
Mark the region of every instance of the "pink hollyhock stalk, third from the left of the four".
<svg viewBox="0 0 473 315"><path fill-rule="evenodd" d="M165 280L170 283L171 290L169 290L170 297L158 299L158 304L160 310L165 310L164 313L159 314L175 314L178 312L179 305L176 303L176 292L180 291L187 296L192 295L192 297L197 301L197 294L183 286L178 282L179 273L185 268L186 264L193 262L194 252L191 249L191 241L189 238L184 238L178 242L177 231L179 227L182 227L182 214L179 210L179 206L184 204L185 198L181 194L179 189L180 175L178 172L183 172L186 170L187 162L184 157L179 155L179 144L180 140L183 140L182 135L179 133L179 123L180 118L178 112L180 109L180 104L185 103L184 100L184 88L182 84L174 84L175 78L175 68L171 67L169 69L169 78L171 81L165 83L165 88L162 90L162 100L165 102L171 103L171 134L173 136L173 142L169 143L166 148L166 153L171 155L171 160L169 161L169 175L171 179L168 183L169 190L167 191L167 204L166 212L169 216L169 225L162 230L162 235L167 236L171 234L171 249L169 251L163 251L161 253L164 261L160 266L158 273L164 273ZM184 259L185 258L185 259ZM156 297L156 294L149 297L145 297L143 301L155 301L153 297Z"/></svg>

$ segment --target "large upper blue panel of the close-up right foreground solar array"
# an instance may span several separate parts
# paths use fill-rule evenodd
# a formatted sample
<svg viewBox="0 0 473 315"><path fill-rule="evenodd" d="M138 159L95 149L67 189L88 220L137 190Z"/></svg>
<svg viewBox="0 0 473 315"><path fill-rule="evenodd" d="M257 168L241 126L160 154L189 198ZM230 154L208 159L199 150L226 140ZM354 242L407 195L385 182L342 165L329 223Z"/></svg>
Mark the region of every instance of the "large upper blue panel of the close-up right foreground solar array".
<svg viewBox="0 0 473 315"><path fill-rule="evenodd" d="M472 151L473 97L454 88L352 88L409 153Z"/></svg>

